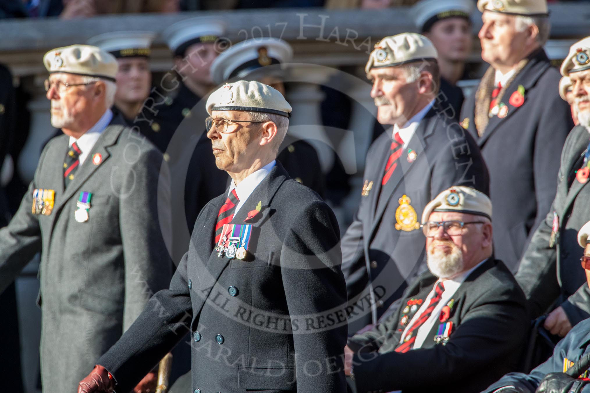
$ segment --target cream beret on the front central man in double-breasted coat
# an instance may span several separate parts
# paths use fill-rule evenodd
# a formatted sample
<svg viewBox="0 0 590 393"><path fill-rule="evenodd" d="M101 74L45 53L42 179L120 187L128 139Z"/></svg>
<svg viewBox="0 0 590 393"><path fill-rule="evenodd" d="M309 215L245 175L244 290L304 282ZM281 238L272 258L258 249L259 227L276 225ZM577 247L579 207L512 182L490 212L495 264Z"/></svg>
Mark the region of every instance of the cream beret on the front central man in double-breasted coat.
<svg viewBox="0 0 590 393"><path fill-rule="evenodd" d="M207 100L211 111L254 111L291 116L291 105L274 88L256 81L237 81L215 90Z"/></svg>

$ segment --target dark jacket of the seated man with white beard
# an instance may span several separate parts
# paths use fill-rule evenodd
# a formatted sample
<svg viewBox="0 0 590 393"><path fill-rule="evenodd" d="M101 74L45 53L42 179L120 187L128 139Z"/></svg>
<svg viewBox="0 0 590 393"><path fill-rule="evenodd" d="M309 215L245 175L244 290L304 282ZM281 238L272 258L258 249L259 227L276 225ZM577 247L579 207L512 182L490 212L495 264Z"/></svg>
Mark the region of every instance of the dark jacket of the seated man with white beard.
<svg viewBox="0 0 590 393"><path fill-rule="evenodd" d="M436 282L424 272L408 287L396 313L349 339L350 349L360 349L353 359L358 393L473 393L517 369L529 325L525 296L506 265L493 257L461 283L446 306L448 313L441 312L441 323L432 326L421 348L394 351L406 321L419 310L409 305L424 301Z"/></svg>

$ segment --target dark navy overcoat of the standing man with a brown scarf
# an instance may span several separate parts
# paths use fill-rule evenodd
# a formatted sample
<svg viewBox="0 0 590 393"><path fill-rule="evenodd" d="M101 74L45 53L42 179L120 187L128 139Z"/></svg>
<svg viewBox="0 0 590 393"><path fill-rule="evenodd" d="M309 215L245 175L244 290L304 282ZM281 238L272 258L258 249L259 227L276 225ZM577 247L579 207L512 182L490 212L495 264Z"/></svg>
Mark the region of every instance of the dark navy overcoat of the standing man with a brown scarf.
<svg viewBox="0 0 590 393"><path fill-rule="evenodd" d="M493 68L487 72L493 84ZM569 105L558 94L559 79L539 49L500 92L506 109L489 118L483 130L477 129L474 117L476 100L480 117L489 111L491 88L486 94L485 82L465 101L461 113L461 125L476 138L490 170L494 252L513 271L549 212L559 155L573 127Z"/></svg>

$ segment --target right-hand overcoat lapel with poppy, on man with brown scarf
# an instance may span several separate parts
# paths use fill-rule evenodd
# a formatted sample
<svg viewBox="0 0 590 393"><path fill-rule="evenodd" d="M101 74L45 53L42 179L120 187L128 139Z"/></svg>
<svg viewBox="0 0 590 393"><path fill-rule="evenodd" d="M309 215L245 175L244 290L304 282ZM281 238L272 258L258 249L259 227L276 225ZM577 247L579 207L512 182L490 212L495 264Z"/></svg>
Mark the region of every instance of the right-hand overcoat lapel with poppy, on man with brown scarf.
<svg viewBox="0 0 590 393"><path fill-rule="evenodd" d="M492 116L490 118L489 123L487 123L486 130L483 133L481 138L477 139L477 144L479 147L482 147L486 141L490 138L490 136L500 128L501 124L503 124L507 119L512 117L514 112L518 111L520 107L514 107L509 103L510 97L514 94L515 91L518 90L519 85L522 85L525 88L525 103L527 100L527 91L532 88L537 80L543 75L543 73L550 67L549 58L545 54L543 49L540 51L535 52L532 54L529 62L523 67L522 70L514 77L514 80L510 82L510 85L506 88L506 92L504 92L502 96L502 103L508 106L508 113L506 117L500 118L497 115ZM523 104L524 105L524 104Z"/></svg>

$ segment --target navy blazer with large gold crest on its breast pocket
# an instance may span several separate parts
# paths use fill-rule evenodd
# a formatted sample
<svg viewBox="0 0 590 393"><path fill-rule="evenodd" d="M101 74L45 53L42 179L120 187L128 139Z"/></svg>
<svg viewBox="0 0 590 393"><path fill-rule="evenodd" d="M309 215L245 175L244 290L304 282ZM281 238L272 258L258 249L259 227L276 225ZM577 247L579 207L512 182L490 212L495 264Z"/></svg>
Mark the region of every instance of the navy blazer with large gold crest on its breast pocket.
<svg viewBox="0 0 590 393"><path fill-rule="evenodd" d="M489 176L473 137L431 108L381 186L391 154L391 132L369 148L365 184L355 220L342 238L349 330L376 323L409 282L425 270L424 206L451 186L489 191Z"/></svg>

